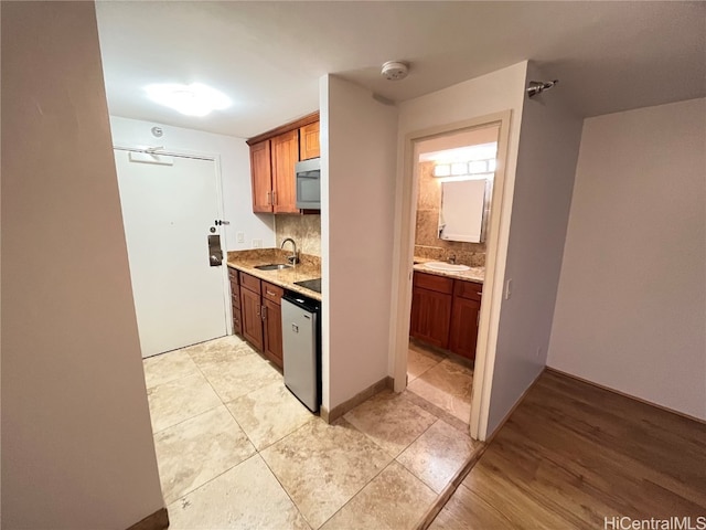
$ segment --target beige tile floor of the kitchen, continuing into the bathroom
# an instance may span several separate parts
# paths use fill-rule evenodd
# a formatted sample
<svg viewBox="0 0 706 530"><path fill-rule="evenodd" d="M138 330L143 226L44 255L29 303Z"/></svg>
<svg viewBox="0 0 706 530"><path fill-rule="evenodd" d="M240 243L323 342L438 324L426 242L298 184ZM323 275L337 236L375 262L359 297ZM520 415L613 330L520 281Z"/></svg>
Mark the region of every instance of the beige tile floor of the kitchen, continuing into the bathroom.
<svg viewBox="0 0 706 530"><path fill-rule="evenodd" d="M147 359L170 529L414 528L480 448L461 405L471 378L413 347L408 391L329 425L237 337Z"/></svg>

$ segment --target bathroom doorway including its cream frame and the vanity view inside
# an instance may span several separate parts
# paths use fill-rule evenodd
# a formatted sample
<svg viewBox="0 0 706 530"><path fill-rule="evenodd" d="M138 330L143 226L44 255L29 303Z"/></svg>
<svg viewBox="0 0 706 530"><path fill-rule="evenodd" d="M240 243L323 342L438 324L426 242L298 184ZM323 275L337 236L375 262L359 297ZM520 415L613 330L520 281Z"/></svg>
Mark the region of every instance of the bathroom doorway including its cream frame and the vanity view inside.
<svg viewBox="0 0 706 530"><path fill-rule="evenodd" d="M480 441L502 296L494 279L510 116L408 135L397 220L395 390L431 395L448 380L439 403ZM463 389L450 373L464 373Z"/></svg>

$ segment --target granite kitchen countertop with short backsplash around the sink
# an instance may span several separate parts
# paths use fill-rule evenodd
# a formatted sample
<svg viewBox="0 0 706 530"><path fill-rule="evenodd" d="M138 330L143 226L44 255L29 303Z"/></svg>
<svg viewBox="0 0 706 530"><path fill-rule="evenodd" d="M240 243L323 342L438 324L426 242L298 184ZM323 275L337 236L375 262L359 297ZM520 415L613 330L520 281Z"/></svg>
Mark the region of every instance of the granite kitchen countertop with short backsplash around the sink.
<svg viewBox="0 0 706 530"><path fill-rule="evenodd" d="M270 263L287 263L287 256L291 252L280 248L255 248L250 251L231 251L228 252L227 265L231 268L243 271L257 278L275 284L288 290L293 290L300 295L304 295L314 300L321 301L321 294L315 290L307 289L295 285L295 282L303 282L306 279L315 279L321 277L321 262L317 256L302 254L301 262L291 268L280 271L259 271L256 265L267 265Z"/></svg>

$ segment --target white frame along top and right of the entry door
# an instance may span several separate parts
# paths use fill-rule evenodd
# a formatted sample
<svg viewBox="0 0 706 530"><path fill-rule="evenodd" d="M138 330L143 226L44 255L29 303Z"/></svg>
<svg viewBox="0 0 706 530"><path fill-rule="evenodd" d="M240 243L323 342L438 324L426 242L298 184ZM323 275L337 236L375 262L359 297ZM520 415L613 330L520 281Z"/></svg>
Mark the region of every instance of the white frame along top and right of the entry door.
<svg viewBox="0 0 706 530"><path fill-rule="evenodd" d="M161 155L165 157L192 158L195 160L207 160L207 161L214 162L215 172L216 172L215 177L216 177L217 215L220 219L225 219L224 204L223 204L223 178L221 173L221 155L218 155L217 152L191 151L188 149L179 149L179 150L156 149L154 151L152 151L152 149L153 148L151 147L145 147L145 146L127 146L127 145L118 145L118 144L115 144L113 146L114 151L143 152L143 153ZM122 211L120 211L120 220L122 221ZM223 226L220 227L220 231L221 231L220 233L221 248L224 250L223 252L225 254L225 257L224 257L225 264L221 267L222 268L221 277L223 282L223 306L225 307L225 319L226 319L225 329L227 331L227 335L233 335L234 332L233 307L229 304L231 280L228 278L227 251L225 250L227 248L227 240L226 240L227 235L226 235L226 230ZM125 227L124 227L124 233L125 233Z"/></svg>

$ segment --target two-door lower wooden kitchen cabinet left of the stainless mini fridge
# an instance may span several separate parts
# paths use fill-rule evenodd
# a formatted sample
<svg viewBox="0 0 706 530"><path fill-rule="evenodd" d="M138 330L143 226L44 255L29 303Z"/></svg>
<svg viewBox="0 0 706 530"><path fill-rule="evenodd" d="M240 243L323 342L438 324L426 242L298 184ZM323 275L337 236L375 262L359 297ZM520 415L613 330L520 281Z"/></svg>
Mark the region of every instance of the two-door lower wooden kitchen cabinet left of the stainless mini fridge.
<svg viewBox="0 0 706 530"><path fill-rule="evenodd" d="M282 360L281 287L239 273L243 337L279 368Z"/></svg>

